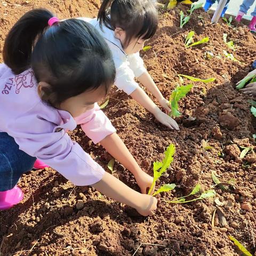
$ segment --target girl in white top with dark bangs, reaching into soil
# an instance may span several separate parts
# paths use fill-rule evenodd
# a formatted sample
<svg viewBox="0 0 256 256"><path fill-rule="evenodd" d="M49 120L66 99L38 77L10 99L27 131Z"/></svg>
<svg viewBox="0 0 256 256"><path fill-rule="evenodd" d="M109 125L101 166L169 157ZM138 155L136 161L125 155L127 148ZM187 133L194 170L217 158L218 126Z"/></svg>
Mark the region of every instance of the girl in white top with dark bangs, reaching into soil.
<svg viewBox="0 0 256 256"><path fill-rule="evenodd" d="M110 7L110 10L109 10ZM97 19L80 18L89 21L106 39L113 54L116 67L115 85L145 107L156 119L170 129L178 130L178 124L163 113L141 87L134 81L138 78L170 112L167 101L143 66L139 51L145 41L151 38L158 25L155 3L152 0L103 0Z"/></svg>

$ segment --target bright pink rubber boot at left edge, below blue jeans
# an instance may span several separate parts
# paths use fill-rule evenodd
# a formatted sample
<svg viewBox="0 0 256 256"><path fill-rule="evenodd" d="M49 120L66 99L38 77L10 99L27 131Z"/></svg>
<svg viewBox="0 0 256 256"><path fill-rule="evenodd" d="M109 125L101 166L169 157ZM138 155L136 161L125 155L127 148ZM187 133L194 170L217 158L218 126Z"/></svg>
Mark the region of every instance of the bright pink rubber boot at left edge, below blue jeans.
<svg viewBox="0 0 256 256"><path fill-rule="evenodd" d="M23 199L21 189L15 186L13 189L0 191L0 211L7 210L18 204Z"/></svg>

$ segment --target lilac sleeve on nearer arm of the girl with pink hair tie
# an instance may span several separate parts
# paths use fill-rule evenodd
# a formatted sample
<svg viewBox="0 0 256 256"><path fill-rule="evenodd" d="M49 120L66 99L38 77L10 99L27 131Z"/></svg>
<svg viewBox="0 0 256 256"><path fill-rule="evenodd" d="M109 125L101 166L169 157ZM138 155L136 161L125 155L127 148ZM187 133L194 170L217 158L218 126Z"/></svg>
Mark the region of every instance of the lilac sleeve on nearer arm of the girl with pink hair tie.
<svg viewBox="0 0 256 256"><path fill-rule="evenodd" d="M54 127L35 115L22 116L10 126L9 134L20 150L50 165L76 186L100 181L105 173L102 167L78 143L71 141L63 129L53 132Z"/></svg>

